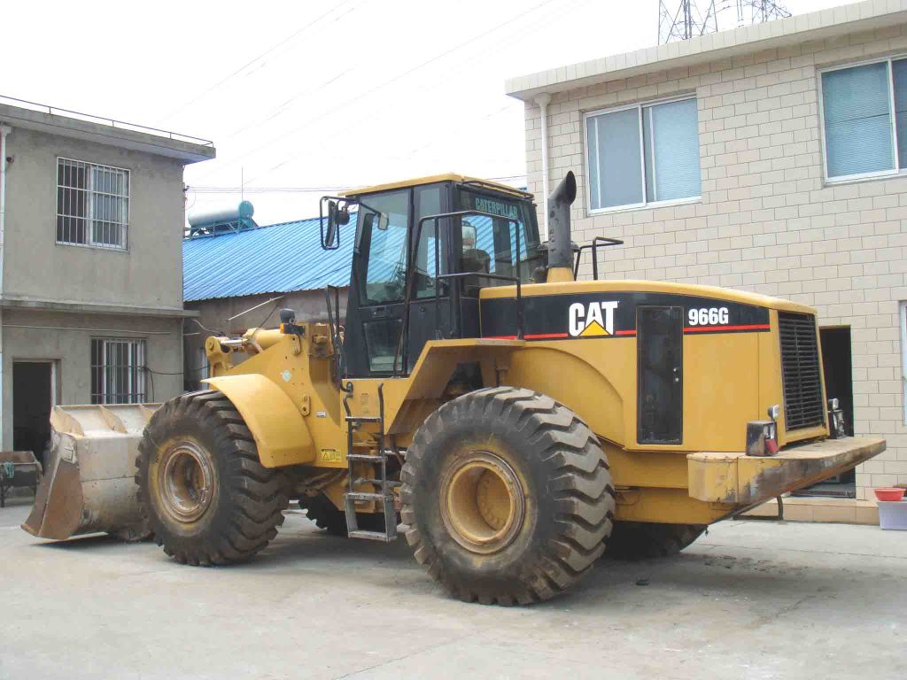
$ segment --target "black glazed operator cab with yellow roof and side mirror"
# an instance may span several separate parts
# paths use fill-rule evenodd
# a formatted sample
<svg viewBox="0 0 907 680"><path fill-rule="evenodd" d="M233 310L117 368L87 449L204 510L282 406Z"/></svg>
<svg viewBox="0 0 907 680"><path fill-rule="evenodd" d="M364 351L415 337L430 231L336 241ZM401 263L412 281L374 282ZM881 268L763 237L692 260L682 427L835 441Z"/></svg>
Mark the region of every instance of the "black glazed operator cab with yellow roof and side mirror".
<svg viewBox="0 0 907 680"><path fill-rule="evenodd" d="M502 184L440 175L322 202L325 248L357 212L346 377L408 374L426 342L479 337L481 289L531 283L544 264L532 194Z"/></svg>

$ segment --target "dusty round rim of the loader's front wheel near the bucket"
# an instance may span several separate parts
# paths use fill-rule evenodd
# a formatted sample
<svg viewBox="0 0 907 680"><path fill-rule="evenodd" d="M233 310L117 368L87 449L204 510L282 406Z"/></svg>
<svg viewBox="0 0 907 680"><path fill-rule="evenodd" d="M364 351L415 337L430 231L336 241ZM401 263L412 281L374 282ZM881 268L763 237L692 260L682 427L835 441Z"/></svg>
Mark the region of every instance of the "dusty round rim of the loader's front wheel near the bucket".
<svg viewBox="0 0 907 680"><path fill-rule="evenodd" d="M195 442L176 442L164 452L158 470L164 510L176 520L198 520L208 510L214 491L207 452Z"/></svg>

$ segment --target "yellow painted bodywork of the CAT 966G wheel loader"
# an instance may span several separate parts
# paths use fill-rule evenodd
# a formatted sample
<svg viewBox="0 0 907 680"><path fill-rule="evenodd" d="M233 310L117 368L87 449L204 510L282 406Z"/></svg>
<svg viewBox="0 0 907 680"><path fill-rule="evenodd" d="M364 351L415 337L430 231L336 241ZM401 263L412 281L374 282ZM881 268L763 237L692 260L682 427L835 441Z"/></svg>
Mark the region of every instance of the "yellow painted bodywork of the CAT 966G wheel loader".
<svg viewBox="0 0 907 680"><path fill-rule="evenodd" d="M301 336L250 331L241 345L252 356L235 367L229 362L229 352L221 355L225 339L209 344L210 357L230 376L217 377L210 384L238 400L264 464L305 465L302 470L308 474L347 467L344 399L353 415L377 416L381 387L387 443L405 448L424 419L456 396L450 391L450 381L458 364L479 364L484 385L512 385L548 394L589 424L610 461L619 492L619 520L709 523L853 467L883 449L884 442L840 440L844 443L826 441L791 450L812 451L809 461L787 450L762 459L744 455L746 423L764 420L767 407L784 403L778 311L814 315L809 307L741 291L651 281L564 281L522 287L526 297L611 292L696 296L768 309L770 327L760 326L758 333L684 333L682 443L637 441L635 331L625 336L602 332L577 339L537 335L532 340L432 341L424 346L408 376L348 379L344 381L346 393L337 388L332 374L326 325L305 325ZM514 296L513 287L485 288L481 300ZM233 389L232 376L254 376L257 387ZM265 398L265 393L270 396ZM784 409L778 422L782 446L827 438L824 424L786 432L783 413ZM375 423L363 423L356 429L356 452L374 450L377 429ZM809 448L815 446L818 448ZM336 501L344 483L338 478L325 492ZM371 509L369 503L357 508Z"/></svg>

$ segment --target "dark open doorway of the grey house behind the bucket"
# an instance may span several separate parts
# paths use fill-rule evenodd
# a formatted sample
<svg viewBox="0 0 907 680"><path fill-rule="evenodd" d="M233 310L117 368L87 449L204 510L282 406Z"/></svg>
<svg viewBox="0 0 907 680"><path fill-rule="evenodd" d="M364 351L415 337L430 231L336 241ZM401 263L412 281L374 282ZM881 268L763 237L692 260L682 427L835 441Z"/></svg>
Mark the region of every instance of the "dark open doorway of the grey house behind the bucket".
<svg viewBox="0 0 907 680"><path fill-rule="evenodd" d="M54 364L13 363L13 448L34 452L46 468L44 449L51 436Z"/></svg>

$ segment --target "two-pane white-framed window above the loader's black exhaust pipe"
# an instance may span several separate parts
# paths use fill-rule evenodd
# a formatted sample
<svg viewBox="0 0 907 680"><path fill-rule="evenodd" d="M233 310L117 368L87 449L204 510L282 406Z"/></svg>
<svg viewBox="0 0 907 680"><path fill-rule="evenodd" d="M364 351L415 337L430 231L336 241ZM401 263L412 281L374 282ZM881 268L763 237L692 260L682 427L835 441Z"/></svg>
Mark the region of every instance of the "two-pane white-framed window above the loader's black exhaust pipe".
<svg viewBox="0 0 907 680"><path fill-rule="evenodd" d="M590 211L702 194L696 99L586 115Z"/></svg>

